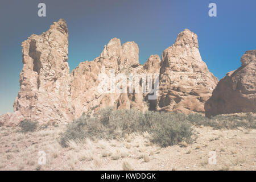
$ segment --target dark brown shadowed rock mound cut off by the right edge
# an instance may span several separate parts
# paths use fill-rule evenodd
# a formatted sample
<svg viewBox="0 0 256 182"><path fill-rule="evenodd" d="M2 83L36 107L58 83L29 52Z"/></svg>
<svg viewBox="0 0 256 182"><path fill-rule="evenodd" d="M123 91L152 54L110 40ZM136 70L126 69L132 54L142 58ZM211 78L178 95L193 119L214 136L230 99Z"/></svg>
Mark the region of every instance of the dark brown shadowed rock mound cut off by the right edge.
<svg viewBox="0 0 256 182"><path fill-rule="evenodd" d="M256 50L246 51L242 66L226 74L205 103L207 117L256 112Z"/></svg>

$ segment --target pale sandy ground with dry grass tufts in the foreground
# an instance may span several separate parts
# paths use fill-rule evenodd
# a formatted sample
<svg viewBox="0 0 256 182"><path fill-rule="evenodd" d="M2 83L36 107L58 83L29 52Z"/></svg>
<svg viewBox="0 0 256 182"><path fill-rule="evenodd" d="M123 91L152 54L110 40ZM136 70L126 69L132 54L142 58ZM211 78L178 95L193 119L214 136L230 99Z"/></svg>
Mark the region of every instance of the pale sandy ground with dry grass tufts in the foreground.
<svg viewBox="0 0 256 182"><path fill-rule="evenodd" d="M161 148L144 133L71 141L62 148L58 139L65 128L49 126L23 134L19 127L1 127L0 170L256 170L256 130L195 127L198 138L188 146Z"/></svg>

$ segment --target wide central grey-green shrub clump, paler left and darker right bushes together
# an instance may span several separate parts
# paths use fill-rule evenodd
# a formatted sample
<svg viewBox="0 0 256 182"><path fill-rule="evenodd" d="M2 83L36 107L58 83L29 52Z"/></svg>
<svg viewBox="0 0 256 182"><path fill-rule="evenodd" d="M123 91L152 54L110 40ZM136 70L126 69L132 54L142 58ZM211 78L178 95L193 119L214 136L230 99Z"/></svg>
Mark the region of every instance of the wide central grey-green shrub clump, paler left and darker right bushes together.
<svg viewBox="0 0 256 182"><path fill-rule="evenodd" d="M92 118L82 115L70 123L60 137L60 144L67 147L71 139L113 139L144 131L151 133L151 141L161 146L170 146L183 140L191 143L194 135L184 114L156 111L143 114L134 109L113 110L112 107L106 107Z"/></svg>

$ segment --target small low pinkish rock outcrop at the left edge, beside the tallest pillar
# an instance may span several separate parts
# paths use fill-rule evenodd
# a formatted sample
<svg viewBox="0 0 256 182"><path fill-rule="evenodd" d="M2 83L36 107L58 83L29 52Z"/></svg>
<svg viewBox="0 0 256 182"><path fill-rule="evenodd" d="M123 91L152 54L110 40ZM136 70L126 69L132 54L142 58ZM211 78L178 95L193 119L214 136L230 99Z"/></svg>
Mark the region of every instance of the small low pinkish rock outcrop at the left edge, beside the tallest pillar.
<svg viewBox="0 0 256 182"><path fill-rule="evenodd" d="M23 115L19 111L14 113L6 113L0 115L0 126L13 127L18 126L24 120Z"/></svg>

